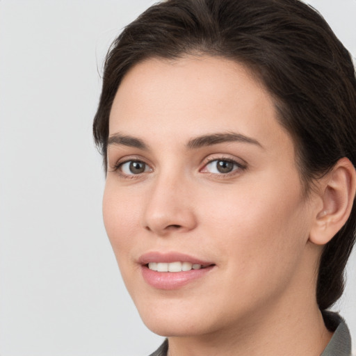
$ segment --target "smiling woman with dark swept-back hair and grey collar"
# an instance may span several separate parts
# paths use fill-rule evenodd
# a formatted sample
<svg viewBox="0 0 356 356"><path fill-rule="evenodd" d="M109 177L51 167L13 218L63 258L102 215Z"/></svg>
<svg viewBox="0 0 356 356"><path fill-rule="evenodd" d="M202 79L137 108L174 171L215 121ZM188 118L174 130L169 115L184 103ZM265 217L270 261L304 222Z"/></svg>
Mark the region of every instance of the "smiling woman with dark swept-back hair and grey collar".
<svg viewBox="0 0 356 356"><path fill-rule="evenodd" d="M106 58L104 223L152 355L350 355L355 71L297 0L168 0Z"/></svg>

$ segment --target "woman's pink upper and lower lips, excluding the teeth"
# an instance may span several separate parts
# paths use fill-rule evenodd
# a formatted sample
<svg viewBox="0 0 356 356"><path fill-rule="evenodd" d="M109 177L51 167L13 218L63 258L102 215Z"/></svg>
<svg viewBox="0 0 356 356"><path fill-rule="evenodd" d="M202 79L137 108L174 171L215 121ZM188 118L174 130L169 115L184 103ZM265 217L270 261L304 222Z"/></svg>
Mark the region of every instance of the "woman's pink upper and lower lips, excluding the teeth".
<svg viewBox="0 0 356 356"><path fill-rule="evenodd" d="M149 262L170 263L176 261L201 264L204 268L182 272L157 272L156 270L150 270L147 266ZM148 252L138 259L138 263L141 265L141 272L145 282L156 289L179 289L194 280L204 277L215 266L215 264L212 264L209 261L202 261L201 259L179 252L170 252L167 254L161 252Z"/></svg>

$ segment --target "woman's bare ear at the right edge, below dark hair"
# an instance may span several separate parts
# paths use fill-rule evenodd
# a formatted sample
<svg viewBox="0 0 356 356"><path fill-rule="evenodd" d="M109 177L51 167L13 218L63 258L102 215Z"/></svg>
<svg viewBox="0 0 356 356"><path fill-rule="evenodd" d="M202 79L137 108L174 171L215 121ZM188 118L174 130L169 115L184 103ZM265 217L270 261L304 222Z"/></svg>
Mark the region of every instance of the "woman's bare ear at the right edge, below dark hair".
<svg viewBox="0 0 356 356"><path fill-rule="evenodd" d="M348 159L340 159L320 183L322 204L318 204L309 241L325 245L345 225L350 216L356 190L356 172Z"/></svg>

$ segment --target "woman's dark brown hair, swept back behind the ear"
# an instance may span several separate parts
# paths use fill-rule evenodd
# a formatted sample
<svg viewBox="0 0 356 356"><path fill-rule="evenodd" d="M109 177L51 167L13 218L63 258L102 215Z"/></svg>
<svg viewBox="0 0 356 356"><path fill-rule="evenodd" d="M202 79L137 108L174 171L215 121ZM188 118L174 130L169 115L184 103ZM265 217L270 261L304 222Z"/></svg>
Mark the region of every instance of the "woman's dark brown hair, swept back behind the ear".
<svg viewBox="0 0 356 356"><path fill-rule="evenodd" d="M342 157L355 166L355 68L316 10L299 0L168 0L129 24L106 56L93 127L105 169L108 118L123 76L147 58L187 54L229 58L257 75L293 138L307 191ZM354 206L346 225L323 249L316 291L321 310L343 293L355 222Z"/></svg>

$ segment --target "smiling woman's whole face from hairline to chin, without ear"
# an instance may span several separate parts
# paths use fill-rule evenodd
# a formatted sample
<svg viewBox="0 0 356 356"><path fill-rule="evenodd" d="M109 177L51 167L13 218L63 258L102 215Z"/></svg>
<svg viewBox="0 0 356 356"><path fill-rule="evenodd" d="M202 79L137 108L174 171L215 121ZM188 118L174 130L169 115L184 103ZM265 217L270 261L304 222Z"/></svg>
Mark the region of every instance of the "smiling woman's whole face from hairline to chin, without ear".
<svg viewBox="0 0 356 356"><path fill-rule="evenodd" d="M243 65L146 60L124 77L109 131L104 223L151 330L218 332L311 288L312 200L273 100Z"/></svg>

